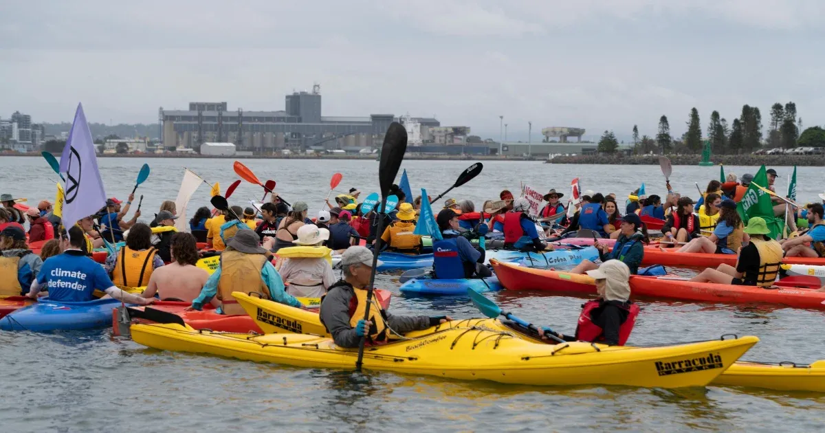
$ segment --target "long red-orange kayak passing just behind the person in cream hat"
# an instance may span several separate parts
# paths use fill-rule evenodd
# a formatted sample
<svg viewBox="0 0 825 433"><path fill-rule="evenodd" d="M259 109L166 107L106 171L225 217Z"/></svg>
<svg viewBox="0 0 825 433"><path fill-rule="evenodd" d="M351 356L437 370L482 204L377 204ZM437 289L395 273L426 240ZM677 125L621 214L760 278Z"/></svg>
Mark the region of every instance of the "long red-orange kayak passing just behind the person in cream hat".
<svg viewBox="0 0 825 433"><path fill-rule="evenodd" d="M544 290L563 294L596 294L596 282L587 275L530 269L493 262L499 282L509 290ZM676 299L725 304L780 304L791 308L825 309L825 292L813 289L761 289L752 285L719 285L672 280L669 277L630 276L634 298Z"/></svg>

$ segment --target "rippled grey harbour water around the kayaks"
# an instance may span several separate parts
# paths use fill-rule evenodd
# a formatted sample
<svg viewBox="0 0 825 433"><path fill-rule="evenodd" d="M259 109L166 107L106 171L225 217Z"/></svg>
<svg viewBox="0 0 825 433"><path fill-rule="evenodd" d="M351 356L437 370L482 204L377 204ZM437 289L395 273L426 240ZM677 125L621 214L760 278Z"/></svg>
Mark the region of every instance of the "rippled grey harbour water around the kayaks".
<svg viewBox="0 0 825 433"><path fill-rule="evenodd" d="M106 192L125 198L141 161L102 158ZM220 181L236 179L224 159L148 159L152 175L138 190L144 215L174 200L182 167ZM378 163L330 160L245 160L262 180L278 182L286 200L320 209L332 172L342 172L340 191L377 190ZM655 166L549 165L485 162L483 173L446 197L480 205L526 181L536 189L568 191L578 176L583 189L626 195L645 181L648 194L664 192ZM466 161L409 161L415 188L430 195L446 190ZM0 189L36 200L54 197L47 178L56 175L40 158L0 158ZM791 167L775 167L780 179ZM725 167L741 175L743 167ZM749 172L755 172L751 168ZM672 185L683 194L692 181L706 184L718 167L674 167ZM823 185L818 167L800 167L798 197L816 201ZM779 181L778 191L786 188ZM237 200L260 199L262 188L243 183ZM691 195L695 196L695 195ZM202 187L193 204L206 204ZM230 200L235 202L235 200ZM235 204L241 204L236 202ZM398 275L380 275L392 289L396 314L479 317L465 299L405 299ZM582 299L535 292L490 294L504 309L559 332L573 332ZM757 335L748 360L810 363L819 347L823 315L790 308L645 302L632 344ZM639 389L625 387L536 388L450 381L392 373L353 378L349 372L298 369L211 356L154 351L97 332L0 332L4 367L0 394L2 431L814 431L821 430L825 395L751 388Z"/></svg>

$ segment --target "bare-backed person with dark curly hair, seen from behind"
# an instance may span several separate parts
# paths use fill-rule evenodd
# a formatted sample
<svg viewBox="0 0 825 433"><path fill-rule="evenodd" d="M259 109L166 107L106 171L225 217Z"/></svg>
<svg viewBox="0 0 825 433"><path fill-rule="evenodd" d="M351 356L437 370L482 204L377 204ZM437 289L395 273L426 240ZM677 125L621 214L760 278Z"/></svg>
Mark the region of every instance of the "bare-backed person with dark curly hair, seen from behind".
<svg viewBox="0 0 825 433"><path fill-rule="evenodd" d="M134 228L133 228L134 230ZM126 242L129 242L129 237ZM172 235L172 263L162 266L152 272L143 298L153 298L158 294L162 301L192 302L200 294L200 289L209 280L209 272L196 266L198 262L197 241L190 233L175 233ZM214 307L219 307L217 299L213 299Z"/></svg>

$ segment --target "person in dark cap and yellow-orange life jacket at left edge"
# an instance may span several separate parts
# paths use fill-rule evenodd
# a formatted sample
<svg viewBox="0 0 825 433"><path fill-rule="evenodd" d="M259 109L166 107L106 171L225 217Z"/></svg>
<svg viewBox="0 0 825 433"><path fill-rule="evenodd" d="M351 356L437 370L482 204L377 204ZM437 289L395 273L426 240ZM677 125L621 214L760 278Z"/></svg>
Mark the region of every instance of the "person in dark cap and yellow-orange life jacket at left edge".
<svg viewBox="0 0 825 433"><path fill-rule="evenodd" d="M0 231L0 252L0 296L26 294L43 259L26 245L26 233L13 226Z"/></svg>

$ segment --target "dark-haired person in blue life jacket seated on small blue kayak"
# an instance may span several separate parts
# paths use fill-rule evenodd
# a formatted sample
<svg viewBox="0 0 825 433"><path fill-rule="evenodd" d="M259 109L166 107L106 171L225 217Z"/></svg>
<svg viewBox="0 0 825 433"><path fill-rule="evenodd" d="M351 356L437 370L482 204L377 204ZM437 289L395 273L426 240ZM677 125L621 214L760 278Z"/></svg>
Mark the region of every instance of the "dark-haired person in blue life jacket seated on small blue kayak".
<svg viewBox="0 0 825 433"><path fill-rule="evenodd" d="M460 280L478 275L485 278L493 275L484 266L484 251L473 247L467 238L459 233L459 218L453 209L441 209L436 217L441 230L441 241L432 243L432 267L437 279Z"/></svg>

